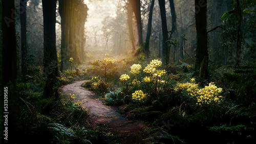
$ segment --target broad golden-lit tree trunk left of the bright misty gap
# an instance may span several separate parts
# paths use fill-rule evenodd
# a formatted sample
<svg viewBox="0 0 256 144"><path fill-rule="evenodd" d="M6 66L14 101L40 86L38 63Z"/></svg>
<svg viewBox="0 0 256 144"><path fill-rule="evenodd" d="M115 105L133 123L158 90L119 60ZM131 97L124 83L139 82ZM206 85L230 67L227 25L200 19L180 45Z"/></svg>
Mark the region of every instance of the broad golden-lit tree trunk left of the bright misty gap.
<svg viewBox="0 0 256 144"><path fill-rule="evenodd" d="M83 1L59 0L61 17L61 66L67 68L69 58L81 64L84 57L84 23L87 18L87 5Z"/></svg>

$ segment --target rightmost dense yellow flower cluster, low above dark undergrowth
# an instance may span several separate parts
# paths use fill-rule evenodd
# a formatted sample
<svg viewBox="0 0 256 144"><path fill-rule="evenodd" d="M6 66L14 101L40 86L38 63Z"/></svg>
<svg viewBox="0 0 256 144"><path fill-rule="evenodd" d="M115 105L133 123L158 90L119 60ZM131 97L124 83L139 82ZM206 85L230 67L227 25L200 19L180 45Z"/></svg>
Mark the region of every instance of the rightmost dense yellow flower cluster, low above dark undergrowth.
<svg viewBox="0 0 256 144"><path fill-rule="evenodd" d="M218 88L214 83L209 83L209 86L205 86L197 92L200 95L197 97L197 104L219 103L223 99L220 95L221 92L222 88Z"/></svg>

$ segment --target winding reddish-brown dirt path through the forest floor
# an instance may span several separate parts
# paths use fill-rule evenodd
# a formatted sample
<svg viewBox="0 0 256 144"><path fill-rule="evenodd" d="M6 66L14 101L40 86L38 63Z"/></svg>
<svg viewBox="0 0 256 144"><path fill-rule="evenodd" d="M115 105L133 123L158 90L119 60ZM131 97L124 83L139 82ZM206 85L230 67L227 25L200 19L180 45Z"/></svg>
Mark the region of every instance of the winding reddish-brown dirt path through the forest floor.
<svg viewBox="0 0 256 144"><path fill-rule="evenodd" d="M139 143L143 139L141 129L145 125L139 122L129 121L125 115L120 114L116 107L103 105L98 100L99 96L86 90L81 85L86 81L77 81L75 83L62 87L63 94L75 94L76 100L82 101L82 107L90 110L89 121L93 126L107 125L110 130L117 134L125 135L122 143Z"/></svg>

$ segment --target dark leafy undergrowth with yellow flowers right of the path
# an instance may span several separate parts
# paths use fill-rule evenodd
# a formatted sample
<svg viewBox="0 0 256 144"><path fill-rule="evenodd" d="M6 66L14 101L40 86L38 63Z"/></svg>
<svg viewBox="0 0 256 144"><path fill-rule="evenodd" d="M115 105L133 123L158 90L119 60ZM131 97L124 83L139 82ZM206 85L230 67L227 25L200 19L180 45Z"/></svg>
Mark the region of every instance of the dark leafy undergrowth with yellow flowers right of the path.
<svg viewBox="0 0 256 144"><path fill-rule="evenodd" d="M98 77L84 86L101 91L106 105L124 105L127 117L148 124L144 142L193 143L199 135L198 143L254 140L255 66L211 65L210 79L202 81L188 64L164 70L160 60L143 61L130 63L105 90Z"/></svg>

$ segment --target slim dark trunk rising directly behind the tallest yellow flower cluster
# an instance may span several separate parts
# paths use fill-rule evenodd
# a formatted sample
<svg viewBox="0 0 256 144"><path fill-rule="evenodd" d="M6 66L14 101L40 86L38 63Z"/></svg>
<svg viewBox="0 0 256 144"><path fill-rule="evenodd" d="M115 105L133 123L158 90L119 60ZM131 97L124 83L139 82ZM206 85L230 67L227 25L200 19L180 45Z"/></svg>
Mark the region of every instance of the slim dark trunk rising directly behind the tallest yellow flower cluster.
<svg viewBox="0 0 256 144"><path fill-rule="evenodd" d="M169 62L169 49L166 44L166 40L168 38L168 31L167 31L167 21L166 21L166 12L165 12L165 1L158 0L160 13L161 13L161 20L162 20L162 60L163 60L163 67L166 67Z"/></svg>

